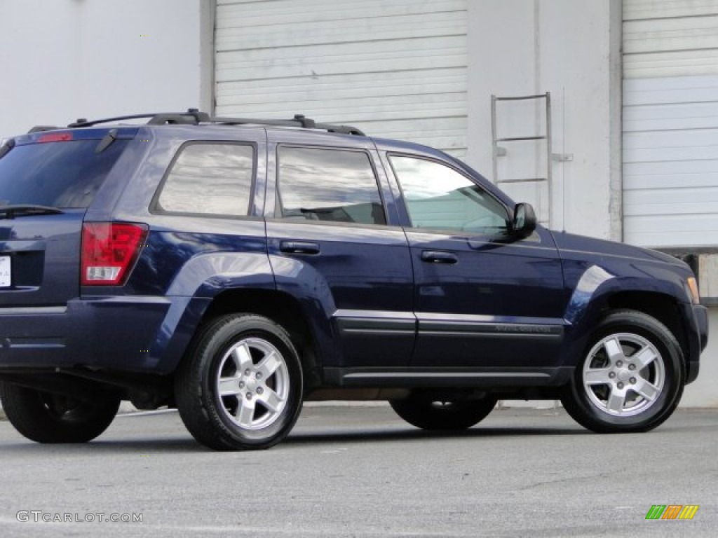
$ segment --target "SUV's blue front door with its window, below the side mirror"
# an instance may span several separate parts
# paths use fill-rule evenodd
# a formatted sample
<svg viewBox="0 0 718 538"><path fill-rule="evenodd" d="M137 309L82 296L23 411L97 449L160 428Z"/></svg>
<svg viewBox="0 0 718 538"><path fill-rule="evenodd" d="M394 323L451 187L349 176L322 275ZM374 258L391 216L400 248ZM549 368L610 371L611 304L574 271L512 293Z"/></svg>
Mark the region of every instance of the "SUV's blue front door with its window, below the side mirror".
<svg viewBox="0 0 718 538"><path fill-rule="evenodd" d="M549 232L510 237L511 209L438 160L389 154L404 198L418 334L413 367L555 366L566 303Z"/></svg>

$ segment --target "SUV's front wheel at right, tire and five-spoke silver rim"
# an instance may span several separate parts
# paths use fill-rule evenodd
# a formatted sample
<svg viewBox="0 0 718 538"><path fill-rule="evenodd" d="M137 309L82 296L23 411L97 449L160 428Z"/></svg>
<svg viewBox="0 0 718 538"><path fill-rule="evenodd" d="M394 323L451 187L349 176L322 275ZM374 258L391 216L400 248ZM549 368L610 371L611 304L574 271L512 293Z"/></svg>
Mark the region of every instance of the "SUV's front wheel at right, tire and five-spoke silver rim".
<svg viewBox="0 0 718 538"><path fill-rule="evenodd" d="M592 334L561 402L597 433L645 432L676 410L685 382L683 352L671 331L645 313L618 310Z"/></svg>

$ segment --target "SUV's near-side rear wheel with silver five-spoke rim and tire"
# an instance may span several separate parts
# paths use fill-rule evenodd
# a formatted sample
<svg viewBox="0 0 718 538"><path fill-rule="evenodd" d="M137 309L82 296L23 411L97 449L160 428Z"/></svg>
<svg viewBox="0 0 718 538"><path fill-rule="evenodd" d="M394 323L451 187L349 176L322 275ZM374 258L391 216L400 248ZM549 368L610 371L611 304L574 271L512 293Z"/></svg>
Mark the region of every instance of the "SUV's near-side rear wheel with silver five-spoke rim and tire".
<svg viewBox="0 0 718 538"><path fill-rule="evenodd" d="M289 434L302 410L302 364L289 334L253 314L221 316L205 326L174 387L187 430L215 450L269 448Z"/></svg>

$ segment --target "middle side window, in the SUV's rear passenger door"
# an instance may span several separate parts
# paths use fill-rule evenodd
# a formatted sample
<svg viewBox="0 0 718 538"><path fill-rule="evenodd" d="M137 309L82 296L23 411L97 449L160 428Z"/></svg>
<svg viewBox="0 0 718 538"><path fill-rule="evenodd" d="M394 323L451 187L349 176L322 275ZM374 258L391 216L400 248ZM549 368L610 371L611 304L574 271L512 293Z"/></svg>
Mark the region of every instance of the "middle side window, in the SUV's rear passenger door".
<svg viewBox="0 0 718 538"><path fill-rule="evenodd" d="M285 219L386 224L363 151L281 147L279 205Z"/></svg>

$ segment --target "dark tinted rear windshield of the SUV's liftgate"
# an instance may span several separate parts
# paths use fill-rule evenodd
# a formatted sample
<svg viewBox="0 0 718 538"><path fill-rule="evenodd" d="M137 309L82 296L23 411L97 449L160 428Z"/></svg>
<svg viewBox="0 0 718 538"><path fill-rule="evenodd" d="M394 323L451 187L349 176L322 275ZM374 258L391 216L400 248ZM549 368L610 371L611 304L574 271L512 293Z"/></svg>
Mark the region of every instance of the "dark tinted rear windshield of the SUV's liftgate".
<svg viewBox="0 0 718 538"><path fill-rule="evenodd" d="M97 140L15 146L0 159L0 205L88 207L127 143L100 153Z"/></svg>

